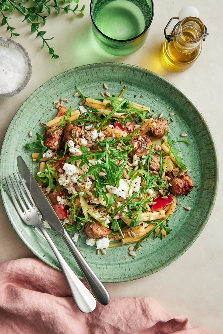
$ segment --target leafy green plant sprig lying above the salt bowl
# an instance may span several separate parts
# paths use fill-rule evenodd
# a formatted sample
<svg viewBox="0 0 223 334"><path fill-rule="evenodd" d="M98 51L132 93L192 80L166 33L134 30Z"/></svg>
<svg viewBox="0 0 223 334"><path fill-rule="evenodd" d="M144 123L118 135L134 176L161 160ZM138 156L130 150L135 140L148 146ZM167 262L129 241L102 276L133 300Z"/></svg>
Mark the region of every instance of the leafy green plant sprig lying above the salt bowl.
<svg viewBox="0 0 223 334"><path fill-rule="evenodd" d="M74 9L71 9L72 1L77 4ZM19 0L0 0L0 13L3 17L1 26L7 26L6 31L11 32L10 38L19 36L19 33L14 32L15 27L8 23L8 19L11 19L11 17L6 16L4 12L8 12L9 14L12 14L14 11L20 12L24 16L23 22L26 21L27 23L31 24L31 32L36 32L36 38L40 37L42 39L41 49L44 45L46 45L48 47L48 53L51 55L51 58L59 58L59 55L54 53L53 47L49 46L47 42L53 39L53 37L45 38L44 35L46 31L39 30L39 26L40 24L45 25L46 19L51 13L51 8L54 8L57 14L63 10L66 14L68 14L69 11L72 11L77 16L78 12L84 14L85 5L83 5L81 9L78 9L79 0L62 0L64 5L67 4L67 6L64 7L59 5L60 0L52 0L53 4L50 3L51 0L32 0L32 6L28 7L23 5L24 2L27 3L28 0L22 0L21 2L19 2ZM47 15L41 15L44 13L44 11L47 12Z"/></svg>

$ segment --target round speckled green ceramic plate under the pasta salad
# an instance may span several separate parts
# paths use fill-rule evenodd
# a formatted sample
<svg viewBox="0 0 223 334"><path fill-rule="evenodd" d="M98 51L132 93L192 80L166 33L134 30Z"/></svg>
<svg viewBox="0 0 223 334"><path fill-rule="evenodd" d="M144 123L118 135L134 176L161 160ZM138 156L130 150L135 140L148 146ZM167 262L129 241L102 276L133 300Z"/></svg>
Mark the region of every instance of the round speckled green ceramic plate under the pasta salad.
<svg viewBox="0 0 223 334"><path fill-rule="evenodd" d="M9 125L1 150L1 191L6 212L20 238L38 258L60 270L38 229L23 224L16 213L5 188L4 176L17 169L17 155L23 157L35 174L37 165L23 145L30 141L30 130L34 134L41 132L40 120L46 122L55 116L55 112L50 111L54 100L66 97L68 106L77 108L80 99L74 98L76 85L85 95L101 98L99 92L104 92L104 82L114 95L119 95L123 85L128 86L125 97L149 106L157 114L163 113L169 121L170 112L174 113L174 122L169 122L172 138L181 139L181 133L188 134L191 145L178 143L178 147L184 153L184 162L196 185L190 195L179 198L182 205L170 220L172 232L168 237L162 241L157 238L144 242L134 259L128 255L128 245L109 248L106 256L102 256L96 255L95 247L86 246L85 235L79 238L78 247L102 282L124 282L150 275L179 258L203 230L215 202L218 162L212 135L194 104L171 82L146 69L119 63L85 65L53 77L23 103ZM186 211L184 206L190 206L191 210ZM83 278L63 239L49 232L65 260Z"/></svg>

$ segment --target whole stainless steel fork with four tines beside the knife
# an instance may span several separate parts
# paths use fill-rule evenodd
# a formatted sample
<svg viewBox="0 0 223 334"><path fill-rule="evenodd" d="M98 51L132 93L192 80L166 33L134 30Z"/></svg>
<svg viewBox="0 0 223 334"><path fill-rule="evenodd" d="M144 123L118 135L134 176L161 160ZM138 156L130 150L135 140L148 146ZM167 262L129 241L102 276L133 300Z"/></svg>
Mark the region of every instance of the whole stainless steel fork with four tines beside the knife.
<svg viewBox="0 0 223 334"><path fill-rule="evenodd" d="M57 247L55 246L54 242L50 238L49 234L45 230L44 226L41 223L42 214L36 207L33 198L25 185L21 175L17 171L19 180L25 190L23 191L21 184L16 176L16 173L13 173L17 187L19 189L19 192L16 188L15 182L13 181L11 175L9 175L12 187L14 189L14 192L9 184L9 181L7 177L5 177L6 184L8 186L8 190L12 199L12 202L21 217L21 219L26 223L27 225L34 225L40 229L46 240L48 241L50 247L52 248L53 253L57 257L61 268L67 278L68 284L70 286L72 295L74 297L74 300L78 306L78 308L84 312L84 313L90 313L92 312L96 307L96 300L93 297L93 295L90 293L90 291L84 286L84 284L79 280L79 278L74 274L74 272L71 270L71 268L68 266L60 252L58 251ZM26 194L25 194L26 193ZM16 200L17 197L17 200ZM27 198L28 197L28 198ZM29 200L28 200L29 199ZM30 202L29 202L30 201ZM20 206L19 206L19 204Z"/></svg>

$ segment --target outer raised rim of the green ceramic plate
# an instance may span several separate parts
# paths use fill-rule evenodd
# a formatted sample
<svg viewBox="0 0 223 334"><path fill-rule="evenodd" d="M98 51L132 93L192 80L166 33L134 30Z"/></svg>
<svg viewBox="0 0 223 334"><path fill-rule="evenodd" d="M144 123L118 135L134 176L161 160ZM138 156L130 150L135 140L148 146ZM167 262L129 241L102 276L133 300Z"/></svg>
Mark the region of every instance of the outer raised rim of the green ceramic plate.
<svg viewBox="0 0 223 334"><path fill-rule="evenodd" d="M13 120L15 117L17 117L17 114L18 112L20 111L20 109L22 109L23 105L25 103L27 103L27 100L30 99L30 97L32 96L35 96L36 93L38 93L38 91L41 91L43 89L43 87L45 85L48 84L49 81L51 81L52 79L56 80L59 76L61 75L66 75L67 73L69 72L72 72L72 71L78 71L78 70L82 70L82 69L85 69L85 68L93 68L93 67L101 67L101 66L109 66L109 67L114 67L114 66L119 66L119 67L129 67L130 69L132 70L136 70L136 71L140 71L140 72L143 72L143 73L146 73L146 74L149 74L153 77L156 77L158 78L159 80L161 79L163 82L167 83L168 85L171 85L172 88L177 91L179 94L183 95L185 97L185 99L190 103L190 105L194 108L194 110L196 111L196 113L198 114L198 116L200 117L200 119L203 121L204 125L205 125L205 128L207 129L207 132L208 132L208 135L209 135L209 138L210 138L210 142L212 144L212 148L213 148L213 151L214 151L214 158L215 158L215 161L214 161L214 165L215 165L215 169L214 169L214 172L215 172L215 182L213 184L213 188L214 188L214 191L213 191L213 198L212 198L212 202L211 204L209 205L209 208L208 208L208 211L207 211L207 215L206 215L206 218L205 220L202 221L202 225L200 225L200 228L196 230L196 234L193 235L193 238L190 240L190 242L187 243L186 247L185 248L181 248L181 252L179 252L177 255L172 255L171 259L169 261L165 261L162 263L162 265L160 266L157 266L155 268L155 270L151 270L152 272L151 273L148 273L148 271L144 271L143 273L139 274L139 275L135 275L134 277L133 276L128 276L128 277L116 277L116 278L112 278L111 280L101 280L102 282L104 283L116 283L116 282L127 282L127 281L132 281L132 280L136 280L136 279L139 279L139 278L143 278L143 277L146 277L146 276L149 276L159 270L161 270L162 268L165 268L167 267L168 265L170 265L171 263L173 263L175 260L177 260L179 257L181 257L189 248L190 246L196 241L196 239L199 237L199 235L201 234L202 230L204 229L205 225L207 224L209 218L210 218L210 215L212 213L212 210L213 210L213 207L215 205L215 201L216 201L216 197L217 197L217 192L218 192L218 180L219 180L219 164L218 164L218 156L217 156L217 149L216 149L216 144L215 144L215 141L214 141L214 138L213 138L213 135L212 135L212 132L210 130L210 127L209 125L207 124L204 116L202 115L202 113L200 112L200 110L196 107L196 105L192 102L192 100L185 94L183 93L179 87L177 87L173 82L171 82L170 80L164 78L163 76L155 73L155 72L152 72L148 69L145 69L145 68L142 68L140 66L136 66L136 65L130 65L130 64L126 64L126 63L117 63L117 62L101 62L101 63L92 63L92 64L86 64L86 65L81 65L81 66L77 66L77 67L74 67L74 68L71 68L71 69L68 69L66 71L63 71L53 77L51 77L50 79L48 79L47 81L45 81L44 83L42 83L41 86L39 86L34 92L32 92L28 97L27 99L22 103L22 105L20 106L20 108L16 111L15 115L13 116L12 120L10 121L9 123L9 126L6 130L6 133L4 135L4 139L3 139L3 142L2 142L2 147L1 147L1 152L0 152L0 161L2 161L2 158L3 158L3 148L4 148L4 145L5 145L5 142L7 140L7 135L10 131L10 127L12 126L12 123L13 123ZM2 170L2 164L0 164L0 169ZM45 262L46 264L48 264L49 266L51 266L52 268L56 269L56 270L59 270L61 271L60 267L58 267L57 264L54 264L52 263L52 261L50 259L47 259L47 258L43 258L42 255L39 253L39 250L36 251L35 248L30 244L30 242L28 242L22 235L22 231L20 231L20 229L18 228L18 226L16 224L13 223L13 219L12 219L12 216L11 216L11 213L7 211L6 209L6 201L5 201L5 198L4 198L4 189L3 189L3 186L2 186L2 178L1 178L1 196L2 196L2 201L3 201L3 205L4 205L4 208L5 208L5 211L8 215L8 218L9 218L9 221L11 223L11 225L13 226L14 230L16 231L16 233L18 234L18 236L20 237L20 239L24 242L24 244L30 249L30 251L35 255L37 256L41 261ZM79 275L79 277L81 279L84 279L84 277L81 277Z"/></svg>

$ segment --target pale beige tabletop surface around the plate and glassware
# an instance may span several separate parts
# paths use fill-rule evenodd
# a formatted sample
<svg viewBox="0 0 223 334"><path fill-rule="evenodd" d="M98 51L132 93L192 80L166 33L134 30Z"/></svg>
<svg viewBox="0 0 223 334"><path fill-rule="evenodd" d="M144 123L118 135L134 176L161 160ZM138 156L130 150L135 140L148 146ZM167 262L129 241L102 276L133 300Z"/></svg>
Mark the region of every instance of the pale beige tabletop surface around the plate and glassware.
<svg viewBox="0 0 223 334"><path fill-rule="evenodd" d="M95 62L123 62L147 68L172 81L199 108L213 133L219 156L220 181L218 196L211 217L195 243L169 267L149 277L133 282L106 284L111 296L154 297L163 308L189 317L193 326L203 325L223 333L223 247L222 247L222 11L220 0L194 0L200 18L210 35L196 63L185 72L171 72L162 67L159 59L164 42L163 28L169 19L189 4L186 0L154 0L154 19L143 47L132 55L115 57L102 51L92 42L90 0L85 3L85 16L54 15L47 20L44 30L47 37L54 36L50 44L57 60L51 59L41 40L30 33L27 23L18 16L11 25L18 27L20 36L15 40L29 53L32 76L27 87L17 96L1 100L0 143L6 129L26 98L42 83L72 67ZM13 14L14 17L14 14ZM0 26L0 36L9 38L5 26ZM207 157L208 159L208 157ZM2 202L0 203L0 262L33 256L14 232Z"/></svg>

